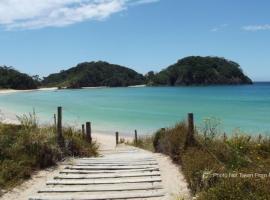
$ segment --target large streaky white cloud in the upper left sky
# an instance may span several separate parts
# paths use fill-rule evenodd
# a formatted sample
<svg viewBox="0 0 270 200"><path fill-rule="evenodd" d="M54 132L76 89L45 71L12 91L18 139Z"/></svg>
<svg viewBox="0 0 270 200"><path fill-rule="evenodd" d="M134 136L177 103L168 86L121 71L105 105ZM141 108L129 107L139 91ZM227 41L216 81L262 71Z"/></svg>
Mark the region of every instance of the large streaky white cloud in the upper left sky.
<svg viewBox="0 0 270 200"><path fill-rule="evenodd" d="M0 25L8 30L62 27L104 20L129 6L159 0L0 0Z"/></svg>

